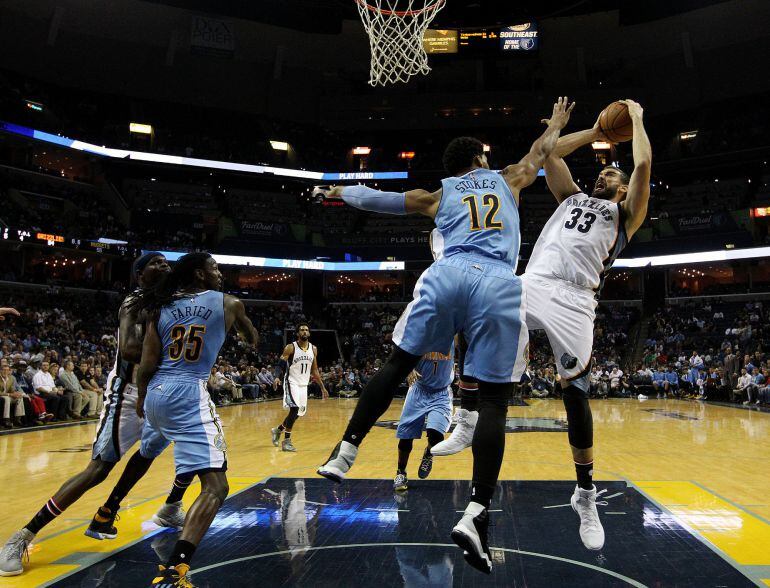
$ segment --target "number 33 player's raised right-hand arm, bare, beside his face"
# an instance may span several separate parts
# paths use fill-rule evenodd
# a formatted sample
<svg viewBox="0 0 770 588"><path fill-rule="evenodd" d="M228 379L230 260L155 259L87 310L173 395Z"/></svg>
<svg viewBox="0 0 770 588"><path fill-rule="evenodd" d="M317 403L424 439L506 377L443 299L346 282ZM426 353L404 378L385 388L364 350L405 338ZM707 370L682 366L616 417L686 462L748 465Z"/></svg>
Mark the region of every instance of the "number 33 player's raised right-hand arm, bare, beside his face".
<svg viewBox="0 0 770 588"><path fill-rule="evenodd" d="M650 175L652 173L652 146L644 130L644 110L633 100L621 100L628 107L628 114L634 125L634 138L631 148L634 154L634 171L628 182L628 194L623 201L626 213L626 235L630 239L647 218L647 205L650 201Z"/></svg>

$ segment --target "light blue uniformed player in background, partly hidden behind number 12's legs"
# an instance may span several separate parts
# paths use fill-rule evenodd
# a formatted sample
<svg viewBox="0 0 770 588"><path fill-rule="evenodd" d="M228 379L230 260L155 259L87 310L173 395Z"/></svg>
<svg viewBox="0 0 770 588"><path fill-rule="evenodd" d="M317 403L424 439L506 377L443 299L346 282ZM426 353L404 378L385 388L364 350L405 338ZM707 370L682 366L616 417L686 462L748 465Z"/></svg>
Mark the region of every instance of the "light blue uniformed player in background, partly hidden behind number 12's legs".
<svg viewBox="0 0 770 588"><path fill-rule="evenodd" d="M393 478L393 489L403 492L409 488L406 465L412 453L414 440L422 437L422 430L428 437L417 476L424 480L433 468L430 450L444 440L452 420L452 390L454 381L454 343L448 352L431 351L420 359L420 363L409 374L409 391L401 409L396 438L398 438L398 467Z"/></svg>

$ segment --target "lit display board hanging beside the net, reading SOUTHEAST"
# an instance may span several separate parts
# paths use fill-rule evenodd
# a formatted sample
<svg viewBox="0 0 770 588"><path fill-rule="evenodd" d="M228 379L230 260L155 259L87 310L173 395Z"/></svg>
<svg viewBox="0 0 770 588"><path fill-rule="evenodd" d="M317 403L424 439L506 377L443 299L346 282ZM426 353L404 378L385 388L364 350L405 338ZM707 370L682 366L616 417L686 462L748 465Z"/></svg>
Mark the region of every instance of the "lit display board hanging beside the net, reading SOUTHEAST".
<svg viewBox="0 0 770 588"><path fill-rule="evenodd" d="M536 22L499 28L425 31L423 47L429 54L458 53L468 56L530 53L539 48Z"/></svg>

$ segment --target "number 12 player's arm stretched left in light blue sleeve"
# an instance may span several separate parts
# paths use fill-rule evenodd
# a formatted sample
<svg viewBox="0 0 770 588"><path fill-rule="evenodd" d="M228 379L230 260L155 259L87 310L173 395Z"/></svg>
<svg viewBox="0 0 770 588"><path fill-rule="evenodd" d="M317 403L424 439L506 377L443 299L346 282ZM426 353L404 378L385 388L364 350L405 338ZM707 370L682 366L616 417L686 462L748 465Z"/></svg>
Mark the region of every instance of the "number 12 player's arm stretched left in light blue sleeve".
<svg viewBox="0 0 770 588"><path fill-rule="evenodd" d="M441 190L409 190L408 192L385 192L367 186L332 186L316 191L330 200L343 200L350 206L382 214L423 214L435 218Z"/></svg>

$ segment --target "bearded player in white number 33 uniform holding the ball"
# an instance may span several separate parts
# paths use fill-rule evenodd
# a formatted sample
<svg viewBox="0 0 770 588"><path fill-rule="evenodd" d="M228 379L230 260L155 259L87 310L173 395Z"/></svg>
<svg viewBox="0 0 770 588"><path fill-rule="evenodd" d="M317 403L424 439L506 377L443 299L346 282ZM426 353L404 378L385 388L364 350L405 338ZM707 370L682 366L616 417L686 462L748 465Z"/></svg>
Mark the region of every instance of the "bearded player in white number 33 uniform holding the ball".
<svg viewBox="0 0 770 588"><path fill-rule="evenodd" d="M578 481L571 502L580 515L583 544L594 550L604 545L592 481L593 417L587 399L597 298L615 258L644 222L650 197L652 150L642 107L632 100L622 102L633 121L633 173L629 178L616 167L604 168L588 196L575 184L562 158L578 147L606 140L598 121L592 129L559 138L544 166L559 206L543 227L523 276L527 327L546 332L561 376ZM458 436L461 432L460 427L455 430ZM451 455L468 446L456 440L455 433L433 448L434 455Z"/></svg>

